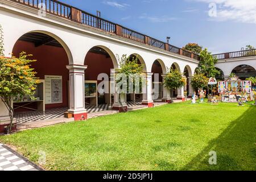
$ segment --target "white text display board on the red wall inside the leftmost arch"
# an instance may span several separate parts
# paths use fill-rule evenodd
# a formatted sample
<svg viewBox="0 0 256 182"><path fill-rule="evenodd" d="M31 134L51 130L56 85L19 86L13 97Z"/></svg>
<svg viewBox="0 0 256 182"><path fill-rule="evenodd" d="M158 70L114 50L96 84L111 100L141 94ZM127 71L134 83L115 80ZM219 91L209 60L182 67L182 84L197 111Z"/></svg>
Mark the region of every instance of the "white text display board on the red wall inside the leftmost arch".
<svg viewBox="0 0 256 182"><path fill-rule="evenodd" d="M62 103L62 76L45 75L44 83L46 104Z"/></svg>

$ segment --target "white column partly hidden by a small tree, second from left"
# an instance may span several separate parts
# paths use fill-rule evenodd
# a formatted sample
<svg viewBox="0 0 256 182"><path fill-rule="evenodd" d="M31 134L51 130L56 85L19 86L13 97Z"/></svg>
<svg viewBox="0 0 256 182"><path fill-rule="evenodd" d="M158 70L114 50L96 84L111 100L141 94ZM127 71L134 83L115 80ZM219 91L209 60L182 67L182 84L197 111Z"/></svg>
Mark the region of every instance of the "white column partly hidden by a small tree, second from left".
<svg viewBox="0 0 256 182"><path fill-rule="evenodd" d="M114 103L112 106L113 110L119 110L119 112L127 111L127 104L126 104L126 93L118 93L118 88L116 86L116 81L115 81L115 75L117 72L115 69L111 70L110 73L110 93L114 94ZM119 102L119 95L120 95L120 100L121 103Z"/></svg>

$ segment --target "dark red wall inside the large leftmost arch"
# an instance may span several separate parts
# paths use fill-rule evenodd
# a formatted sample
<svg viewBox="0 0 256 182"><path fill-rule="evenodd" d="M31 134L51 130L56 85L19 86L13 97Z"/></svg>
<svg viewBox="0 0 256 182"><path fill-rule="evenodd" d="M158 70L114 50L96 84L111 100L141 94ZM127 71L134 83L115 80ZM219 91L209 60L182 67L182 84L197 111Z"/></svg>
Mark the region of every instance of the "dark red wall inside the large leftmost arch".
<svg viewBox="0 0 256 182"><path fill-rule="evenodd" d="M34 43L19 41L16 42L13 55L18 57L19 53L25 51L27 54L33 55L30 59L37 60L31 63L31 67L35 68L37 77L44 80L44 75L63 76L63 103L48 104L46 109L52 107L68 106L68 80L69 71L66 68L68 65L68 56L64 48L53 46L35 47Z"/></svg>

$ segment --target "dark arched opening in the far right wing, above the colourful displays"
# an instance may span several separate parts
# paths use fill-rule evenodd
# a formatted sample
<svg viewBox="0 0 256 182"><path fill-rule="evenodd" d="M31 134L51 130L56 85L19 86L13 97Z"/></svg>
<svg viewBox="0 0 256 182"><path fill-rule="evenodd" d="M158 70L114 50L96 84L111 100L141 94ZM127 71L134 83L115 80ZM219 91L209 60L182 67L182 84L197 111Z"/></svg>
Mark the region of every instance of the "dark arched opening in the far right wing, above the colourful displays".
<svg viewBox="0 0 256 182"><path fill-rule="evenodd" d="M256 71L250 65L242 64L233 69L232 73L236 74L240 80L246 80L249 77L256 77Z"/></svg>

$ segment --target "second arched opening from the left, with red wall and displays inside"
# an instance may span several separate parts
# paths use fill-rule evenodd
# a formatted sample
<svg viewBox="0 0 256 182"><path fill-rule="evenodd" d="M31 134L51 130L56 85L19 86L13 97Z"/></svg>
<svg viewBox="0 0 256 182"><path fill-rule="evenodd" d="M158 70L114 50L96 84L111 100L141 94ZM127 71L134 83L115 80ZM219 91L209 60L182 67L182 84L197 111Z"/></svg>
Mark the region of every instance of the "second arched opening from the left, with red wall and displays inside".
<svg viewBox="0 0 256 182"><path fill-rule="evenodd" d="M103 46L95 46L86 54L84 65L85 70L85 107L88 113L111 109L114 95L110 93L110 73L117 68L117 60L113 53ZM105 75L103 80L98 80L98 76ZM99 77L99 79L103 79ZM102 86L101 91L98 89ZM100 92L99 92L100 91Z"/></svg>

